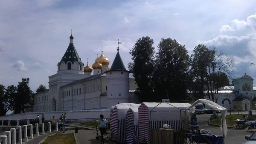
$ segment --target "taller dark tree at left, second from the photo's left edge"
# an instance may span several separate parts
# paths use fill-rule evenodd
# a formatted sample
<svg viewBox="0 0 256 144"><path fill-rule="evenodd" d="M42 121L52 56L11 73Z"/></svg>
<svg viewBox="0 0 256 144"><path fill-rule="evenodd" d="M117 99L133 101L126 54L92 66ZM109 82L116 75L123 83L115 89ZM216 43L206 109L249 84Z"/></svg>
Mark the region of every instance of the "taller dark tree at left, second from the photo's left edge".
<svg viewBox="0 0 256 144"><path fill-rule="evenodd" d="M32 90L29 87L29 78L21 78L17 85L17 96L14 99L14 113L24 112L24 105L32 100Z"/></svg>

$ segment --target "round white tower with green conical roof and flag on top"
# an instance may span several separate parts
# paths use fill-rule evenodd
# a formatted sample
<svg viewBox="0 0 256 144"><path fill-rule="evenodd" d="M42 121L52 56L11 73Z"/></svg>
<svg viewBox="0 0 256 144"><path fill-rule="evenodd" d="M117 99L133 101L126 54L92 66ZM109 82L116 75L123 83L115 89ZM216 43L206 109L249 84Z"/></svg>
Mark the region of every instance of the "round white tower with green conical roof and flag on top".
<svg viewBox="0 0 256 144"><path fill-rule="evenodd" d="M108 108L120 103L129 102L129 71L125 69L117 48L116 57L111 69L107 72Z"/></svg>

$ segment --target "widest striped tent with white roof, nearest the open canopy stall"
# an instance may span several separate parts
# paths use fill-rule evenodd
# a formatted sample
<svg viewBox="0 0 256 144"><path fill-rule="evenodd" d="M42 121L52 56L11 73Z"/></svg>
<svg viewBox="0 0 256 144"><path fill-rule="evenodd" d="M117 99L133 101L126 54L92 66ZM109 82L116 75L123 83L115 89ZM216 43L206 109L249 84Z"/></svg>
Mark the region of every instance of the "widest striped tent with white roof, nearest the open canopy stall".
<svg viewBox="0 0 256 144"><path fill-rule="evenodd" d="M188 103L143 103L139 107L139 143L150 144L151 130L169 124L175 131L182 128L181 109ZM182 111L183 111L182 110ZM184 113L182 113L184 114Z"/></svg>

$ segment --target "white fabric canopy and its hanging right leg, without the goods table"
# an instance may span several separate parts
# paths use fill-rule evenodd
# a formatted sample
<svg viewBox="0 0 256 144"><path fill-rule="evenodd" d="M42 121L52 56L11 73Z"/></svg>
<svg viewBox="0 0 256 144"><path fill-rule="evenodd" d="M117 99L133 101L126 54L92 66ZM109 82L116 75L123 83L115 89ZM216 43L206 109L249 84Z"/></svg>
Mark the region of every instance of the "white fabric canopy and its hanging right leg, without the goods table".
<svg viewBox="0 0 256 144"><path fill-rule="evenodd" d="M199 99L199 100L195 101L195 103L192 104L190 107L187 107L186 109L192 109L192 107L194 107L198 103L206 104L207 106L211 107L212 109L221 111L221 132L223 135L223 144L224 144L225 138L227 136L227 123L226 123L227 109L224 107L221 107L217 103L215 103L213 101L209 101L207 99Z"/></svg>

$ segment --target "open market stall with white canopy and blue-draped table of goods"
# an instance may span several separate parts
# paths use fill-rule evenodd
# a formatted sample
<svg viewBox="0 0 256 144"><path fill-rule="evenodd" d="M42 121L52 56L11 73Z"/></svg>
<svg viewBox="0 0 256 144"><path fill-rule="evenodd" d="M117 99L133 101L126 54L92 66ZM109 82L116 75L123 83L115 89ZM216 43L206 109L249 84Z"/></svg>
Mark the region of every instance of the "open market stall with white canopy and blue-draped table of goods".
<svg viewBox="0 0 256 144"><path fill-rule="evenodd" d="M221 111L221 127L220 128L221 128L222 136L212 135L209 131L204 130L206 132L201 132L202 130L200 130L198 132L188 132L189 140L197 143L201 142L201 143L207 143L207 144L224 144L225 137L227 135L227 124L226 124L227 109L207 99L199 99L195 101L195 103L192 104L190 107L187 107L186 109L187 110L192 109L192 107L194 107L198 103L203 103L211 107L212 109Z"/></svg>

